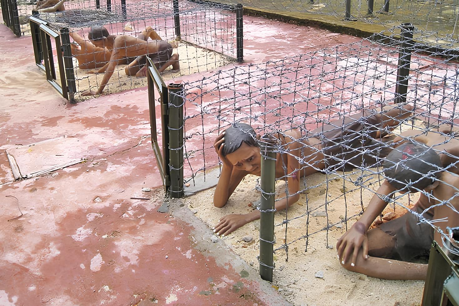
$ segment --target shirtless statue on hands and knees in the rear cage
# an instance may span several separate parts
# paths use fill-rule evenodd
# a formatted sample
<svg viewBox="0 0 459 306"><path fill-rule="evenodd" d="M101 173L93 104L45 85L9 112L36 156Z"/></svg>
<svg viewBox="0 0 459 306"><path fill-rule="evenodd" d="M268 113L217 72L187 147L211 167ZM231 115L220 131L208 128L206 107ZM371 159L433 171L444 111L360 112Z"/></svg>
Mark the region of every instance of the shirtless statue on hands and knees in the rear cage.
<svg viewBox="0 0 459 306"><path fill-rule="evenodd" d="M102 26L92 27L88 33L91 43L100 48L112 50L110 61L106 63L98 72L104 72L101 86L97 91L85 90L82 95L100 95L104 90L108 80L112 77L115 67L123 61L124 58L133 58L138 56L149 56L152 59L161 61L155 62L158 72L163 72L167 67L172 66L174 70L179 69L179 56L172 55L172 45L167 44L164 47L163 40L145 41L130 35L110 35L106 28ZM167 58L167 61L165 61ZM134 60L135 61L135 60ZM127 72L130 72L129 68Z"/></svg>

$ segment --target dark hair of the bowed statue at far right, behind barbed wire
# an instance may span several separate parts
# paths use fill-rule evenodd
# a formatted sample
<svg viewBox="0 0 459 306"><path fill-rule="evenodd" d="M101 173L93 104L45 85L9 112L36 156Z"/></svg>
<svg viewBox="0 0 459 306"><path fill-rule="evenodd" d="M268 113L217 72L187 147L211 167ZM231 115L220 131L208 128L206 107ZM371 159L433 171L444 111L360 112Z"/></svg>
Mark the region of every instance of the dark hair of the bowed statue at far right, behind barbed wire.
<svg viewBox="0 0 459 306"><path fill-rule="evenodd" d="M397 190L422 190L433 184L442 172L442 161L435 150L407 143L386 157L384 175Z"/></svg>

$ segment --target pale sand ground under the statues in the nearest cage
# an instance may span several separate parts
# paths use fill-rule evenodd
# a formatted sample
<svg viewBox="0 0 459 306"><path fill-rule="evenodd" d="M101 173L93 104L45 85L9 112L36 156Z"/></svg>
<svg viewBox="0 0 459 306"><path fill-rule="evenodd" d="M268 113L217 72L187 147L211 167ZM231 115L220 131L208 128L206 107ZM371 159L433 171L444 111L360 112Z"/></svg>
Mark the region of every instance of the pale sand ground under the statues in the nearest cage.
<svg viewBox="0 0 459 306"><path fill-rule="evenodd" d="M421 122L415 122L420 125ZM409 129L409 125L404 125L401 130ZM398 130L400 131L400 129ZM373 169L376 170L376 169ZM347 172L352 180L355 180L360 172ZM248 176L234 194L229 199L224 208L218 209L213 206L214 189L203 191L185 200L191 210L197 211L196 215L204 221L210 228L218 223L218 219L232 213L247 213L254 208L249 204L256 202L260 193L255 189L259 183L256 176ZM327 180L326 175L315 173L307 178L309 186L316 186ZM276 226L274 235L276 243L274 249L288 244L288 261L285 250L278 250L274 254L275 269L273 286L278 288L285 299L294 305L420 305L422 292L424 289L423 281L394 281L382 280L366 277L364 275L345 270L339 264L336 257L336 242L342 234L346 232L346 224L342 222L343 217L347 218L360 214L362 206L367 206L382 181L374 175L369 184L369 190L363 189L360 195L360 188L349 181L344 182L340 176L329 175L329 188L326 193L325 184L319 187L304 191L300 200L291 206L287 211L282 211L275 215L274 224L280 224L283 220L302 216L309 210L308 233L314 233L309 237L308 248L306 250L305 239L295 239L307 234L307 216L300 217L285 226ZM276 183L277 192L284 190L284 182ZM343 187L344 186L344 187ZM301 188L304 188L302 185ZM343 196L346 191L346 200ZM327 199L325 199L327 196ZM339 197L339 198L338 198ZM336 199L337 198L337 199ZM404 205L411 207L418 196L411 195L400 200ZM328 225L325 217L325 200L330 201L328 205ZM362 204L361 204L362 203ZM405 210L402 207L387 206L384 214L395 211L398 216ZM315 217L314 217L315 216ZM358 217L352 217L347 221L347 227L353 225ZM322 230L330 225L329 230ZM259 255L259 220L249 223L236 230L223 240L236 254L258 270ZM285 235L285 232L287 233ZM252 236L251 242L244 242L242 238ZM327 241L328 238L328 241ZM315 273L322 271L324 278L315 277Z"/></svg>

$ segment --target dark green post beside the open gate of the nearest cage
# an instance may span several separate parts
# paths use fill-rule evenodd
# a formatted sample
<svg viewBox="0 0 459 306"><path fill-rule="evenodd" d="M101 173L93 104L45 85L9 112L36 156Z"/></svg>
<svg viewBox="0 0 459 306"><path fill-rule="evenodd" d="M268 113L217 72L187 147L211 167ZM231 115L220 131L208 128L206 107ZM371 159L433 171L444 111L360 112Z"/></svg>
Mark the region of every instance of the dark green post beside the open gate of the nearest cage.
<svg viewBox="0 0 459 306"><path fill-rule="evenodd" d="M181 198L183 196L183 84L170 83L169 90L169 158L170 168L169 196Z"/></svg>

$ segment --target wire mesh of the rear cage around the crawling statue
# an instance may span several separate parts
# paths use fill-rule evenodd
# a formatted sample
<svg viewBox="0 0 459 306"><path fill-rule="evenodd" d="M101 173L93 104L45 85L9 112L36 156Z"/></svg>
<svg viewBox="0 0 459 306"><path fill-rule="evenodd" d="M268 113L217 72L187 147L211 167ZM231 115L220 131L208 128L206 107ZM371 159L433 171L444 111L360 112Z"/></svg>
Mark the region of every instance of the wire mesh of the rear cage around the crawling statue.
<svg viewBox="0 0 459 306"><path fill-rule="evenodd" d="M138 57L134 45L138 45L138 49L148 48L148 44L157 45L158 52L149 57L164 79L206 72L235 61L237 56L235 6L188 0L108 4L98 1L96 5L70 1L65 5L65 11L40 12L37 16L56 33L69 29L72 51L69 60L74 67L77 100L87 99L89 95L85 91L101 94L146 86L146 57L141 51ZM95 41L97 38L90 40L90 29L100 26L106 29L104 35L111 38L108 43L103 39L99 44ZM115 37L123 42L115 45ZM133 38L139 39L138 42ZM134 50L135 55L128 56L128 48ZM114 52L123 56L118 58L112 77L101 91L104 73Z"/></svg>

